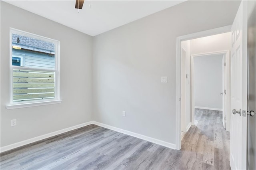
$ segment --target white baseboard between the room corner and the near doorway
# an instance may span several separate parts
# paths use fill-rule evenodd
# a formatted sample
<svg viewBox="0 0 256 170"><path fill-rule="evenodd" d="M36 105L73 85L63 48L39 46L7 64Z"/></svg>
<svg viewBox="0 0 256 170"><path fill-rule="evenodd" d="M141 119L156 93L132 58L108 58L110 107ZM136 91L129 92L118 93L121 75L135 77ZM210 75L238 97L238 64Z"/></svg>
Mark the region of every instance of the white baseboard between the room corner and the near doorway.
<svg viewBox="0 0 256 170"><path fill-rule="evenodd" d="M130 136L134 136L136 138L147 140L149 142L159 144L159 145L165 146L167 148L176 149L176 144L173 144L173 143L165 142L163 140L159 140L159 139L156 139L156 138L151 138L149 136L144 136L142 134L134 133L134 132L124 130L124 129L121 129L121 128L112 127L110 125L106 125L106 124L99 123L99 122L96 122L96 121L92 121L92 122L93 122L94 125L98 125L100 127L104 127L104 128L108 128L110 130L114 130L114 131L117 131L117 132L120 132L120 133L128 134Z"/></svg>

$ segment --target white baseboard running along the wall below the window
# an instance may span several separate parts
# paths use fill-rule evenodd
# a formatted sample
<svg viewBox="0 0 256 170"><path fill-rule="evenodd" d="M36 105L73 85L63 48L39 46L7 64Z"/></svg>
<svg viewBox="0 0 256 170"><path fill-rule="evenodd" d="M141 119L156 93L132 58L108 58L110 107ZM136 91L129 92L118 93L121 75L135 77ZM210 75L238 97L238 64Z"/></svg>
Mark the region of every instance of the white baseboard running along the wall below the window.
<svg viewBox="0 0 256 170"><path fill-rule="evenodd" d="M33 142L37 142L39 140L42 140L42 139L45 139L45 138L49 138L49 137L52 137L52 136L55 136L55 135L58 135L58 134L62 134L64 132L68 132L70 130L74 130L74 129L77 129L77 128L80 128L80 127L84 127L84 126L87 126L87 125L91 125L93 124L92 123L93 121L90 121L90 122L86 122L86 123L82 123L80 125L76 125L76 126L73 126L73 127L69 127L69 128L64 128L64 129L61 129L61 130L57 130L55 132L51 132L51 133L48 133L48 134L43 134L41 136L37 136L37 137L34 137L34 138L30 138L28 140L23 140L21 142L17 142L17 143L14 143L14 144L10 144L10 145L7 145L7 146L3 146L0 148L0 153L1 152L5 152L7 150L11 150L11 149L14 149L14 148L18 148L20 146L24 146L26 144L30 144L30 143L33 143Z"/></svg>

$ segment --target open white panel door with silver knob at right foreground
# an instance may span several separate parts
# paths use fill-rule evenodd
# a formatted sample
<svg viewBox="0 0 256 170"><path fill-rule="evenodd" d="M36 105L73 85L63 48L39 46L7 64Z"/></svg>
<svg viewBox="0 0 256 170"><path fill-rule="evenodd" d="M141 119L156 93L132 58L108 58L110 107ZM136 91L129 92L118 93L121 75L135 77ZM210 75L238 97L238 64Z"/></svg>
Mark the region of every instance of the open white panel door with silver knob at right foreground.
<svg viewBox="0 0 256 170"><path fill-rule="evenodd" d="M247 2L242 1L234 23L231 49L230 166L246 169L247 114Z"/></svg>

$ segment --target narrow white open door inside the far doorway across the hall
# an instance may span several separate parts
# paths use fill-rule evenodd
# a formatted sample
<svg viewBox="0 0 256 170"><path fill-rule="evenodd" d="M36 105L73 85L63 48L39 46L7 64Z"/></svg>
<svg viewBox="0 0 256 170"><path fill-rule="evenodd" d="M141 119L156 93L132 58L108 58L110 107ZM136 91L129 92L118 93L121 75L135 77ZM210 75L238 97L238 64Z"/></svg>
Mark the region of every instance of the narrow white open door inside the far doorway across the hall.
<svg viewBox="0 0 256 170"><path fill-rule="evenodd" d="M222 58L222 123L226 128L226 55Z"/></svg>

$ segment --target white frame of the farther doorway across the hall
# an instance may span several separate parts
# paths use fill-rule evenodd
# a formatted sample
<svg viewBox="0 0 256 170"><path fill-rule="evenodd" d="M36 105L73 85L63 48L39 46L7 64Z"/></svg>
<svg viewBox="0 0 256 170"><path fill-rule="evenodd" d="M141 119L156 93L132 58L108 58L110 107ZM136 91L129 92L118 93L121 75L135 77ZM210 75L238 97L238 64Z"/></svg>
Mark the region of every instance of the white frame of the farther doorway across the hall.
<svg viewBox="0 0 256 170"><path fill-rule="evenodd" d="M195 102L194 102L194 57L202 57L206 55L223 55L226 57L226 130L230 131L230 50L214 51L208 53L200 53L191 55L191 123L194 125L195 116ZM223 73L223 70L222 70ZM224 89L222 89L224 90ZM223 92L224 93L224 92ZM222 106L223 109L224 106Z"/></svg>

